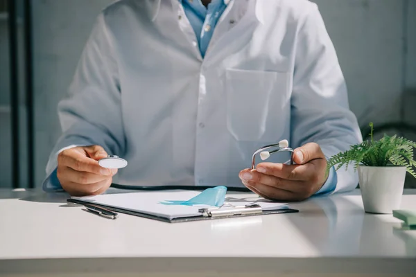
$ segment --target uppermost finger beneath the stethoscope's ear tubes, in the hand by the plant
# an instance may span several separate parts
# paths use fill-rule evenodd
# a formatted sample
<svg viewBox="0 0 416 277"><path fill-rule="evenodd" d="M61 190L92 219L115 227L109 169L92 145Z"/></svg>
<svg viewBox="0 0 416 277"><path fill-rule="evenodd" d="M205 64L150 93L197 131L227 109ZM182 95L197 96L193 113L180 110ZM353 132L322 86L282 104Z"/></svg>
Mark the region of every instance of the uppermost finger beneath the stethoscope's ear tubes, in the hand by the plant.
<svg viewBox="0 0 416 277"><path fill-rule="evenodd" d="M315 166L310 163L304 165L287 165L284 163L259 163L257 172L273 175L281 179L293 181L308 181L314 175Z"/></svg>

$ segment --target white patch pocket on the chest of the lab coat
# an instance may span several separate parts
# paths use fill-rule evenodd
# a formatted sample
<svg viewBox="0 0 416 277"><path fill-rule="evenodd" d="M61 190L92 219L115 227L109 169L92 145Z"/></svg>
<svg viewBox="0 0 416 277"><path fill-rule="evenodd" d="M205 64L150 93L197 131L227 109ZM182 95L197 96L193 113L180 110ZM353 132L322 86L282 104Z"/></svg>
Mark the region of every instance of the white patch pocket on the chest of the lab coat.
<svg viewBox="0 0 416 277"><path fill-rule="evenodd" d="M234 139L279 139L283 123L274 103L286 96L287 73L227 69L225 74L227 128Z"/></svg>

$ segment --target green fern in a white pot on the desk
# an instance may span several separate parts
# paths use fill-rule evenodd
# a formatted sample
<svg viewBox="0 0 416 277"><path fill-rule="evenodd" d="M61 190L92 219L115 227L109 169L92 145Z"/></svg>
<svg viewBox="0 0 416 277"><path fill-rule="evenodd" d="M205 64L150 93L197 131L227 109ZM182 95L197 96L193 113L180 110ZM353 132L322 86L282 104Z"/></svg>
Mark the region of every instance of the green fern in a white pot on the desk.
<svg viewBox="0 0 416 277"><path fill-rule="evenodd" d="M416 143L387 135L374 141L372 123L370 127L370 141L352 145L349 150L331 157L327 172L333 166L339 170L352 163L354 170L358 169L364 210L367 213L392 213L400 207L406 171L416 178L413 170Z"/></svg>

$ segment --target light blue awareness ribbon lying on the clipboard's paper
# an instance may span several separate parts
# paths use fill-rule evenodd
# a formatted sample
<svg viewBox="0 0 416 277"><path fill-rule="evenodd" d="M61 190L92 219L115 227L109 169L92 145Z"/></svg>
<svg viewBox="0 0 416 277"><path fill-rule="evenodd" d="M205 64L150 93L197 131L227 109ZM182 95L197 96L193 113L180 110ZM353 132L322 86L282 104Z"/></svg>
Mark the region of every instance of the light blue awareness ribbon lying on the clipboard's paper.
<svg viewBox="0 0 416 277"><path fill-rule="evenodd" d="M220 207L223 206L225 195L227 193L227 187L225 186L216 186L214 188L207 188L202 191L196 197L193 197L187 201L178 201L178 200L165 200L160 202L164 205L184 205L184 206L193 206L193 205L209 205Z"/></svg>

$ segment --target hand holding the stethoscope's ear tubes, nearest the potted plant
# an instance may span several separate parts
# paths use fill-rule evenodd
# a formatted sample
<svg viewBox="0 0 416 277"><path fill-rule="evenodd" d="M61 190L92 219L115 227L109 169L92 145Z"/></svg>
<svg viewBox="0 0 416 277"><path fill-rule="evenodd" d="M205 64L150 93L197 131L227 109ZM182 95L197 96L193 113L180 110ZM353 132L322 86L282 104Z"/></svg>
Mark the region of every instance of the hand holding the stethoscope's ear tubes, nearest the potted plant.
<svg viewBox="0 0 416 277"><path fill-rule="evenodd" d="M317 143L295 149L294 165L259 163L241 170L239 177L252 192L267 199L300 201L314 195L325 183L327 159Z"/></svg>

